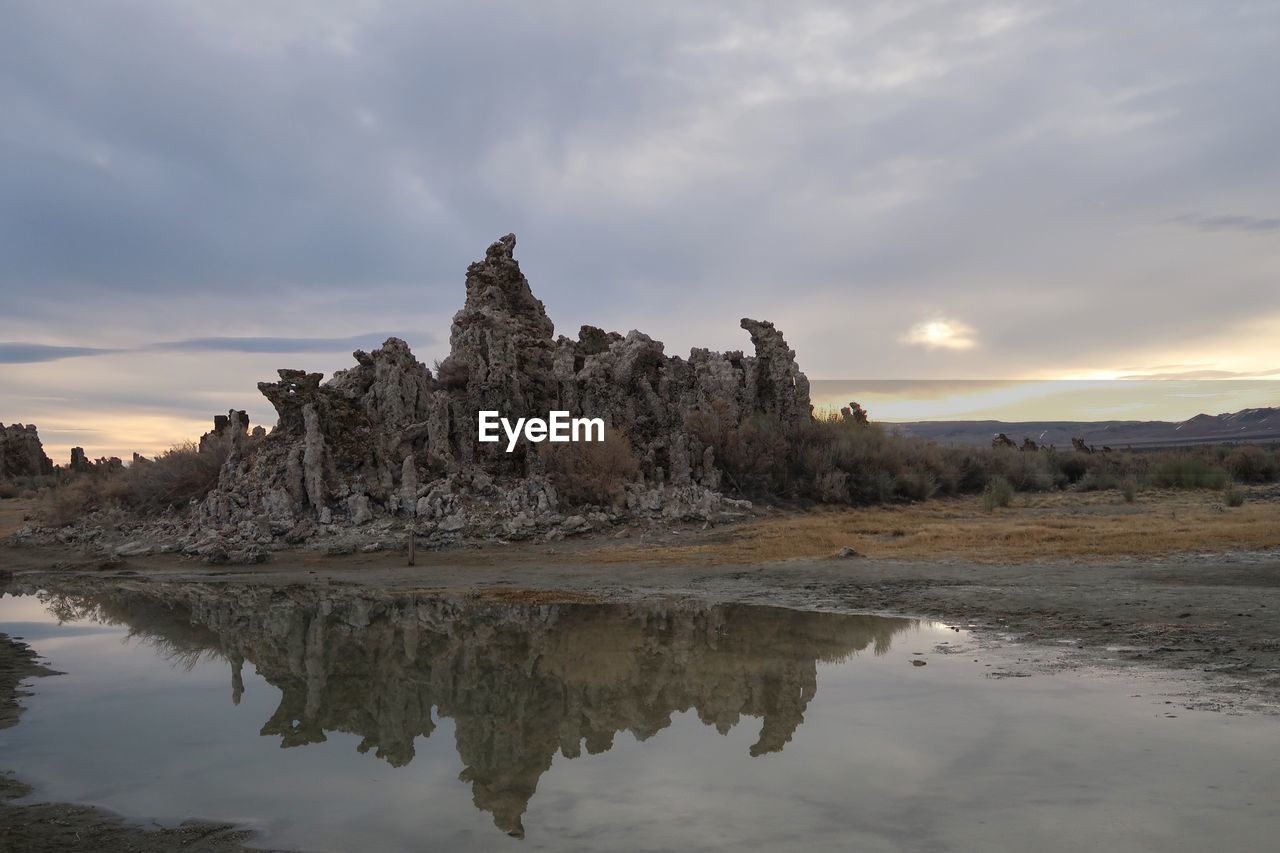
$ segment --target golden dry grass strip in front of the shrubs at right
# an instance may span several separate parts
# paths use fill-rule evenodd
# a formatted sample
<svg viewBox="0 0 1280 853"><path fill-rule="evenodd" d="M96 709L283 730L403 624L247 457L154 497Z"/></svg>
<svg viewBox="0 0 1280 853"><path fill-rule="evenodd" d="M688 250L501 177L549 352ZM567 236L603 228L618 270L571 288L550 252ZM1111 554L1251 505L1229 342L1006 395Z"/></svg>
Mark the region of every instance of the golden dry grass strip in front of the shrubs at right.
<svg viewBox="0 0 1280 853"><path fill-rule="evenodd" d="M849 546L868 557L1016 562L1110 558L1189 551L1280 548L1280 501L1224 508L1215 492L1020 496L988 512L980 497L902 507L818 510L736 526L689 544L611 544L576 557L591 562L748 565L829 557Z"/></svg>

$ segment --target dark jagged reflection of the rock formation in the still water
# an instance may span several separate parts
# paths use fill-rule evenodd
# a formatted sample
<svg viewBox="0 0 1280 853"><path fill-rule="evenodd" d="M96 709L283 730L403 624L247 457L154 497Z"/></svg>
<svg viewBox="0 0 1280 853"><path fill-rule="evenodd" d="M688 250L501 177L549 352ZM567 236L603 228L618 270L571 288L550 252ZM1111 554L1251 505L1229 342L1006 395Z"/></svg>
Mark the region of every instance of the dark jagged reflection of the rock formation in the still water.
<svg viewBox="0 0 1280 853"><path fill-rule="evenodd" d="M521 816L557 752L644 740L694 711L724 734L762 720L753 756L782 749L817 689L817 663L877 652L905 619L772 607L511 605L330 589L179 585L113 592L100 615L168 652L216 651L282 692L262 726L285 747L360 735L361 752L399 766L435 729L456 725L477 808L520 835Z"/></svg>

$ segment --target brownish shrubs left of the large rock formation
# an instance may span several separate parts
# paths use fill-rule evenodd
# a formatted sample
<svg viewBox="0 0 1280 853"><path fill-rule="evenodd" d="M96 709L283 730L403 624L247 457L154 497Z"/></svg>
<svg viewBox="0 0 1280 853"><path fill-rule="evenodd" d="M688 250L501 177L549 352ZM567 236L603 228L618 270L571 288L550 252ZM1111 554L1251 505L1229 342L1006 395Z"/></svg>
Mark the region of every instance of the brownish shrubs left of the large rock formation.
<svg viewBox="0 0 1280 853"><path fill-rule="evenodd" d="M228 451L223 443L201 451L195 442L183 442L127 467L104 466L65 475L64 482L41 492L36 514L50 526L64 526L96 510L120 508L140 515L182 510L204 500L218 484Z"/></svg>

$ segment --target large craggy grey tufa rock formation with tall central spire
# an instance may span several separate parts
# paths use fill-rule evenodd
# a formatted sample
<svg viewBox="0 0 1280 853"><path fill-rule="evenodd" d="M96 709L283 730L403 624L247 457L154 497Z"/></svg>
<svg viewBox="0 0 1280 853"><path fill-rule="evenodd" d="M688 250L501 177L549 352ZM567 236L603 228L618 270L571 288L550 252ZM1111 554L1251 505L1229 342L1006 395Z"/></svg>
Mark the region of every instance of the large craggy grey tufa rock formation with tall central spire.
<svg viewBox="0 0 1280 853"><path fill-rule="evenodd" d="M466 302L435 375L407 343L389 338L355 352L356 365L328 382L287 369L259 383L279 420L261 442L241 441L243 412L215 425L215 434L237 438L198 524L239 529L259 544L291 532L297 539L315 525L390 519L416 519L433 534L471 526L509 538L557 524L559 501L540 456L548 446L522 443L507 453L480 444L480 410L511 419L563 410L617 429L641 474L626 485L625 507L608 511L713 520L741 510L745 502L719 494L712 448L685 419L714 407L732 423L756 415L806 423L809 380L781 332L744 319L754 355L695 348L687 359L635 330L584 325L576 339L556 337L515 247L507 234L467 268ZM585 524L575 529L590 529Z"/></svg>

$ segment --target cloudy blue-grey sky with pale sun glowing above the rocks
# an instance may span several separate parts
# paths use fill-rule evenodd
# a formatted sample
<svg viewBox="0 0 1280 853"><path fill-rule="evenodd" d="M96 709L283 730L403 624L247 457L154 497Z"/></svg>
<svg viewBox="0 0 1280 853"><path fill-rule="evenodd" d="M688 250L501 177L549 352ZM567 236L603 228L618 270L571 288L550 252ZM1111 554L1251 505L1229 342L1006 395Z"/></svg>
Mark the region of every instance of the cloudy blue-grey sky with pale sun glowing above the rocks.
<svg viewBox="0 0 1280 853"><path fill-rule="evenodd" d="M828 380L1280 369L1271 0L0 5L0 421L55 461L431 364L507 232L558 332L671 355L751 316Z"/></svg>

